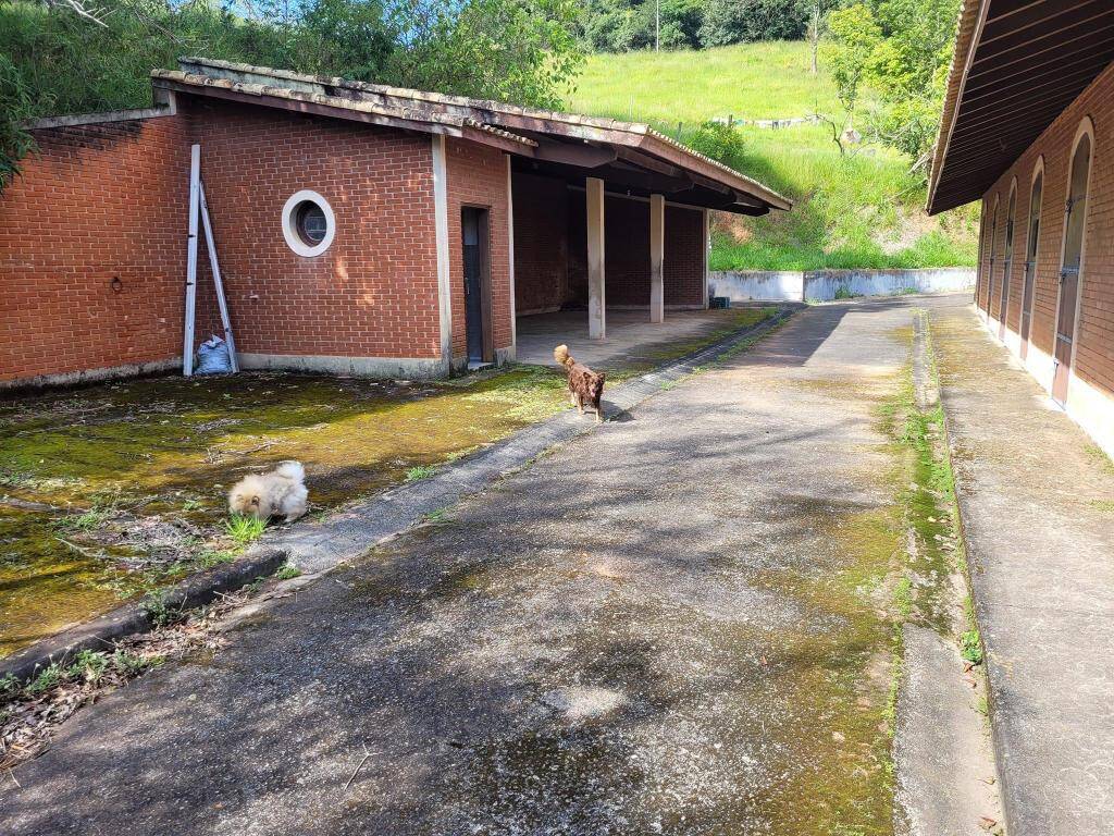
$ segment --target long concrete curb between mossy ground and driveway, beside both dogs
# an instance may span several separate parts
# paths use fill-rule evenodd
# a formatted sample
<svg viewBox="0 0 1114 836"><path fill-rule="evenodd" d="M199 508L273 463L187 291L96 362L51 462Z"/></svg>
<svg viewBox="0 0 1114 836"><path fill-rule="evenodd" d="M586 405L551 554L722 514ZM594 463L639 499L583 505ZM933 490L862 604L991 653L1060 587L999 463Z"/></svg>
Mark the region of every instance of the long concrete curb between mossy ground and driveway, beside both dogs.
<svg viewBox="0 0 1114 836"><path fill-rule="evenodd" d="M680 380L739 344L776 328L802 307L781 305L771 319L629 380L605 398L605 414L614 418L627 412L659 392L663 383ZM264 535L235 563L199 573L168 587L163 593L163 601L173 607L201 606L221 592L240 589L256 577L273 574L287 562L296 564L304 573L328 572L397 536L421 522L427 514L453 505L463 496L522 467L554 445L594 431L596 426L590 418L580 418L571 410L559 412L439 469L429 479L389 488L341 508L323 521L302 523ZM115 640L149 630L152 622L146 605L150 600L147 597L125 604L0 660L0 678L10 674L23 681L40 668L63 662L81 650L105 649Z"/></svg>

